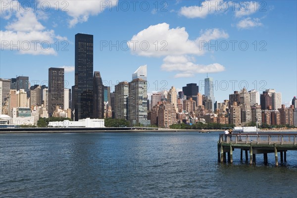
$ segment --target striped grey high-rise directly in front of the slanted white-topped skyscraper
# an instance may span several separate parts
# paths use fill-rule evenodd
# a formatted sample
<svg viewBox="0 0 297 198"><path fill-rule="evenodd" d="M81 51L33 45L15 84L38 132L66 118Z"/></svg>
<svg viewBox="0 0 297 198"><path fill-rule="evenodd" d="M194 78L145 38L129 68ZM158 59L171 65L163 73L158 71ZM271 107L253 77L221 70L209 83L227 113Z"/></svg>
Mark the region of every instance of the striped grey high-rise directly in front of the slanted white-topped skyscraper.
<svg viewBox="0 0 297 198"><path fill-rule="evenodd" d="M143 79L134 79L129 82L129 120L131 124L148 123L148 83Z"/></svg>

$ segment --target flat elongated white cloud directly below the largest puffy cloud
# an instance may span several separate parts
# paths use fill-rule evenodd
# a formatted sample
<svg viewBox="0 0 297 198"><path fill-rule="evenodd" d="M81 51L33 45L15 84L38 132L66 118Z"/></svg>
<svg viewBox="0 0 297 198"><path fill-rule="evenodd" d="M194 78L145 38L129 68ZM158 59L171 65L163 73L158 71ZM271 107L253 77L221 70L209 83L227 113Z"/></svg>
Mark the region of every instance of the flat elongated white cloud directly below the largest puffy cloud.
<svg viewBox="0 0 297 198"><path fill-rule="evenodd" d="M195 64L193 58L188 56L166 56L163 59L161 69L164 71L178 72L175 78L193 77L196 73L215 73L225 71L225 67L219 63L208 65Z"/></svg>

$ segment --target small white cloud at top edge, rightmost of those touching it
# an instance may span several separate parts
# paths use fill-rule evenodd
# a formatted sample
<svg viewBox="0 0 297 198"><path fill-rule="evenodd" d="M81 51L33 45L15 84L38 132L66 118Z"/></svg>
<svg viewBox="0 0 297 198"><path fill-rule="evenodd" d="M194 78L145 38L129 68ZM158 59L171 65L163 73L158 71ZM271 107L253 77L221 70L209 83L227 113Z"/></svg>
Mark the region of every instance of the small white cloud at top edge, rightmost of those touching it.
<svg viewBox="0 0 297 198"><path fill-rule="evenodd" d="M260 3L256 1L242 1L234 4L234 7L236 8L235 17L251 15L261 8Z"/></svg>

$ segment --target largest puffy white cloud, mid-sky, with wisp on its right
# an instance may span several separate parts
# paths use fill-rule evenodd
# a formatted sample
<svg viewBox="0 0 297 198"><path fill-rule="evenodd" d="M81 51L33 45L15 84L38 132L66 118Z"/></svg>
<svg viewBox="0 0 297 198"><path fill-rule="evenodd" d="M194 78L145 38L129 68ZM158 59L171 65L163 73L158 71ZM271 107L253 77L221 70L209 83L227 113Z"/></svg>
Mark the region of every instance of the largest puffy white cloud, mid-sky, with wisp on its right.
<svg viewBox="0 0 297 198"><path fill-rule="evenodd" d="M147 29L134 35L128 42L133 54L141 56L166 56L166 55L203 55L205 51L199 47L199 41L228 38L228 34L219 29L209 29L201 32L201 37L189 40L185 27L169 29L169 24L160 23L151 25Z"/></svg>

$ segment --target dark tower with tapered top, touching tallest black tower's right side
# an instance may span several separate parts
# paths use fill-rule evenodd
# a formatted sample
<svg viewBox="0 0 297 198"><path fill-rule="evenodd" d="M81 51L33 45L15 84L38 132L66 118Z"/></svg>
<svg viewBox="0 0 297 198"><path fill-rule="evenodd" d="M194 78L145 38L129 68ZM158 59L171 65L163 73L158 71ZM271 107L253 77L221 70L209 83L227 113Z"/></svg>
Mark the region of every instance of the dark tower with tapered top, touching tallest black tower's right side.
<svg viewBox="0 0 297 198"><path fill-rule="evenodd" d="M99 71L94 72L93 80L93 118L104 119L104 86Z"/></svg>

